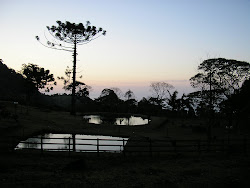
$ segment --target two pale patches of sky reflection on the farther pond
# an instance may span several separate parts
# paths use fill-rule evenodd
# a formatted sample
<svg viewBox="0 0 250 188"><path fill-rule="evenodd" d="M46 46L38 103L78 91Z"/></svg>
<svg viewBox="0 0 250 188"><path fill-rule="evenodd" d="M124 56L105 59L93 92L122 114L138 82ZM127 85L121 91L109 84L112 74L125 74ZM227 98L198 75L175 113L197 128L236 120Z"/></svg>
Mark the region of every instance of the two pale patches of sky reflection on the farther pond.
<svg viewBox="0 0 250 188"><path fill-rule="evenodd" d="M99 115L86 115L83 119L88 123L101 124L103 121ZM129 118L114 118L115 125L145 125L148 124L150 120L143 119L142 117L130 116Z"/></svg>

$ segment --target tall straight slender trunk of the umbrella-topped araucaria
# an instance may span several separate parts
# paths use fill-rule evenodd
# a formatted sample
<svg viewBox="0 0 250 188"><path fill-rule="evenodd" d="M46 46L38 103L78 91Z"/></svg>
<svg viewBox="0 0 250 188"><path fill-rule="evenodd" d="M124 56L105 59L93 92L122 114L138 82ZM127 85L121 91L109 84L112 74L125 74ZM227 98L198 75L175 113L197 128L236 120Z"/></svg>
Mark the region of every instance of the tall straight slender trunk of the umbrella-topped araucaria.
<svg viewBox="0 0 250 188"><path fill-rule="evenodd" d="M74 42L73 52L73 85L72 85L72 98L71 98L71 115L76 115L76 41Z"/></svg>

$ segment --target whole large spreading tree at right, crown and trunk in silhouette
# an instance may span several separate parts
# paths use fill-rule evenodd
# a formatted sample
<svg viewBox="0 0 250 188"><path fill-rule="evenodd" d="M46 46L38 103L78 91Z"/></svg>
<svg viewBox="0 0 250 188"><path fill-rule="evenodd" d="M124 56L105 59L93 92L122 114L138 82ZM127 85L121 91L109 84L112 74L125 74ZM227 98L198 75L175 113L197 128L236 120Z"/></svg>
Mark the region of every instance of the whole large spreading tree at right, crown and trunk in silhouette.
<svg viewBox="0 0 250 188"><path fill-rule="evenodd" d="M208 117L207 136L210 140L211 129L216 124L215 113L221 111L220 104L235 95L242 82L250 77L250 64L224 58L208 59L198 66L198 70L200 72L190 78L190 83L194 88L199 88L193 96L197 98L198 115ZM229 111L226 114L231 128L233 109Z"/></svg>

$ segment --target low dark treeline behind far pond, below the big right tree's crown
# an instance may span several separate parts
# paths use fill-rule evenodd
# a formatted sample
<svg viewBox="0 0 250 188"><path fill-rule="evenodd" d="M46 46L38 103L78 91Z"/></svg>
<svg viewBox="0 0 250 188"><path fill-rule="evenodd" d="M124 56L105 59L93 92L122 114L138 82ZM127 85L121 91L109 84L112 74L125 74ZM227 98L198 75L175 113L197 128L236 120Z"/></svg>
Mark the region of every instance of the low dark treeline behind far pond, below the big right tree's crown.
<svg viewBox="0 0 250 188"><path fill-rule="evenodd" d="M160 82L157 84L162 84ZM130 97L125 97L130 93ZM169 91L166 98L158 101L154 96L136 100L133 91L129 90L124 95L118 88L106 88L96 99L88 96L78 96L76 109L78 112L116 112L116 113L141 113L146 115L166 115L178 117L208 117L227 116L229 118L249 116L250 112L250 81L246 80L239 90L228 99L210 109L209 99L202 98L200 92L183 94L177 97L177 91ZM41 95L41 105L55 110L71 108L70 94Z"/></svg>

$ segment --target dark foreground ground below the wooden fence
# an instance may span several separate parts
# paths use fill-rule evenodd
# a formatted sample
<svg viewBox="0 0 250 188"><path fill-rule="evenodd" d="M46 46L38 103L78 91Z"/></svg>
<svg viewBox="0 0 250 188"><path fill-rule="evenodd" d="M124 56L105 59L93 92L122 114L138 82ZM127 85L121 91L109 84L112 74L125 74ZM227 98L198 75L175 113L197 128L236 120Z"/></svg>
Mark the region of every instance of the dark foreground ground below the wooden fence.
<svg viewBox="0 0 250 188"><path fill-rule="evenodd" d="M249 158L13 152L1 154L1 187L249 187Z"/></svg>

